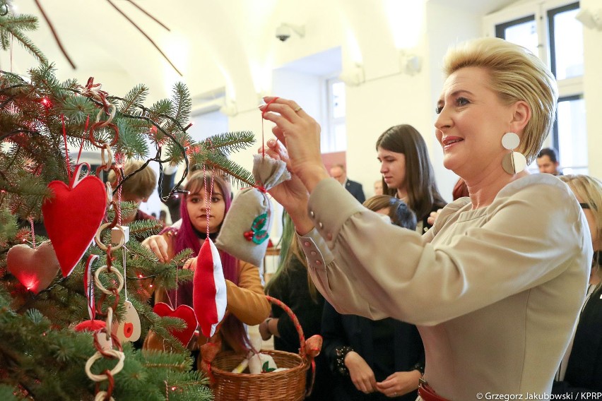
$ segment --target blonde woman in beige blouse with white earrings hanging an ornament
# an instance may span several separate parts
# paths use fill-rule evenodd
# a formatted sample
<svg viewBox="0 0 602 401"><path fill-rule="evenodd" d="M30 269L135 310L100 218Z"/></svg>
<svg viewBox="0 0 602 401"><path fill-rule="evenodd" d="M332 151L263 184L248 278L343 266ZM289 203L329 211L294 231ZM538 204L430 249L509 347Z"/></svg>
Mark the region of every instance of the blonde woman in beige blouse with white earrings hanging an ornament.
<svg viewBox="0 0 602 401"><path fill-rule="evenodd" d="M456 45L443 64L435 136L470 197L449 203L426 234L358 205L326 172L319 124L274 97L259 107L276 124L266 152L293 176L269 192L337 311L417 325L422 400L549 395L593 253L567 185L525 169L553 127L556 81L528 49L494 37Z"/></svg>

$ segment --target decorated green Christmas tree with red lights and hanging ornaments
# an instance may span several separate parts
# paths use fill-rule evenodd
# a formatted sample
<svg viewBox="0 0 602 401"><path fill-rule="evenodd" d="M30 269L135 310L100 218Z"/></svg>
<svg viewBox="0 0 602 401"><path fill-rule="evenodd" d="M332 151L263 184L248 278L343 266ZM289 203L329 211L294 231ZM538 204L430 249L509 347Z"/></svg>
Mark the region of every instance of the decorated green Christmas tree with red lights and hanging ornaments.
<svg viewBox="0 0 602 401"><path fill-rule="evenodd" d="M120 237L120 214L131 213L136 205L112 202L104 208L105 198L105 224L69 274L53 259L58 244L45 253L45 247L52 247L34 227L52 217L61 234L73 241L90 228L85 216L76 213L57 222L46 206L58 197L52 181L83 183L69 147L100 152L106 170L120 172L123 160L135 157L160 166L182 163L182 179L196 166L219 169L235 184L253 186L252 174L228 160L230 152L254 142L252 133L223 133L194 143L187 133L191 99L181 83L172 98L145 107L144 85L116 97L100 90L93 78L85 85L59 82L52 64L23 33L36 23L32 16L0 15L2 48L8 49L13 37L40 59L28 78L0 71L0 400L209 400L208 381L191 371L188 349L170 334L184 329L184 321L160 317L148 304L153 287L170 289L178 280L191 280L192 273L177 269L190 251L159 263L134 239L158 233L160 226L153 221L132 222L126 246L115 245L112 228ZM89 172L98 174L100 169ZM112 192L129 178L121 176ZM177 188L161 194L163 200ZM87 213L87 202L82 196L71 206L76 210L83 204ZM95 276L98 283L93 285ZM122 291L119 276L124 277ZM154 330L178 352L141 352L114 337L112 347L103 347L100 341L110 337L106 325L127 321L126 301L137 311L143 336ZM82 330L99 322L105 331ZM90 378L99 376L98 381Z"/></svg>

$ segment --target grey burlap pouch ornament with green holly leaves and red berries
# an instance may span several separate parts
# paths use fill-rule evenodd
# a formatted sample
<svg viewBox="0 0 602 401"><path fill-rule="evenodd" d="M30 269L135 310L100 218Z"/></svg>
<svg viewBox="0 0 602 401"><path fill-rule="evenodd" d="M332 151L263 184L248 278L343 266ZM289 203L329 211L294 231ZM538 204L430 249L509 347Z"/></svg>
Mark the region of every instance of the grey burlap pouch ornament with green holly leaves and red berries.
<svg viewBox="0 0 602 401"><path fill-rule="evenodd" d="M272 225L271 202L266 191L290 179L286 163L267 155L253 156L254 188L235 196L226 215L216 246L241 261L259 266L268 247Z"/></svg>

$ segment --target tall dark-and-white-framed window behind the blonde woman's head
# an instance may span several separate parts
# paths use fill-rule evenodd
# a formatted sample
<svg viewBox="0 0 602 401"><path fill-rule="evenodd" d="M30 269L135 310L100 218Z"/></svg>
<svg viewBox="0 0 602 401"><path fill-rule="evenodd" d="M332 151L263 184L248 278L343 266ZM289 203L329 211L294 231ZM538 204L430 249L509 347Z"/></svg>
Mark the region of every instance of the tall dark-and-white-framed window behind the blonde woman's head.
<svg viewBox="0 0 602 401"><path fill-rule="evenodd" d="M583 28L575 18L579 2L529 1L484 18L488 35L521 44L545 61L555 75L560 99L545 147L558 151L567 172L587 173L587 133L583 99Z"/></svg>

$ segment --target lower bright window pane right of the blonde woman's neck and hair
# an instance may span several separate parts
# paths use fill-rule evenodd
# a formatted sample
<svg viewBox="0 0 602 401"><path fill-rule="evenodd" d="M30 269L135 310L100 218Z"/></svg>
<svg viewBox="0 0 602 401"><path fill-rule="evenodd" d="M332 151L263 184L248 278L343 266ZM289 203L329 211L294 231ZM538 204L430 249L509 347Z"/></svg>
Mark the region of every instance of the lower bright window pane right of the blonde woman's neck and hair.
<svg viewBox="0 0 602 401"><path fill-rule="evenodd" d="M583 99L558 102L558 153L560 167L587 167L587 134ZM567 172L565 172L567 174Z"/></svg>

